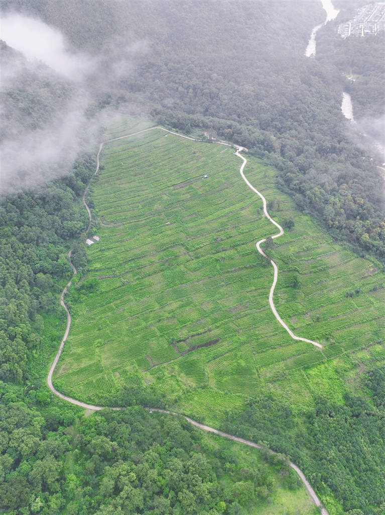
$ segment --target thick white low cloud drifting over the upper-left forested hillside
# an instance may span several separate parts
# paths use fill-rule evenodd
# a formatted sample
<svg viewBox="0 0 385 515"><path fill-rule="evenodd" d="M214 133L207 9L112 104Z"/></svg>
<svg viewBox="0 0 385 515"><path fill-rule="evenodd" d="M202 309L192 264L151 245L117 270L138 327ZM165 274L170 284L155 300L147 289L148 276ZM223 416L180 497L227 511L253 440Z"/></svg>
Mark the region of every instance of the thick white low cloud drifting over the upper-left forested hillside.
<svg viewBox="0 0 385 515"><path fill-rule="evenodd" d="M79 153L93 148L106 111L115 110L96 112L95 99L130 75L146 44L112 41L93 57L70 50L60 31L36 18L11 13L1 28L0 187L8 194L65 175Z"/></svg>

